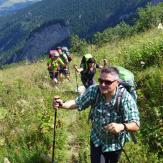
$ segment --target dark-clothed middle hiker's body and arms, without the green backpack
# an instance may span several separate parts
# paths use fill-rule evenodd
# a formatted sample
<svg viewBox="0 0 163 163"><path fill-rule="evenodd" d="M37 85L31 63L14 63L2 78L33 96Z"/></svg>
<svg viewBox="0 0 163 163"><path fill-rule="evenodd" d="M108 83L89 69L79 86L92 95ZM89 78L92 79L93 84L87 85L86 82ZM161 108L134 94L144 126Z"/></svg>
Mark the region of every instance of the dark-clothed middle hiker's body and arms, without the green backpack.
<svg viewBox="0 0 163 163"><path fill-rule="evenodd" d="M81 73L81 81L84 85L84 87L87 89L89 86L95 84L94 76L96 73L96 68L101 68L100 65L96 64L96 61L94 58L89 58L86 62L86 68L83 67L77 68L77 66L74 66L75 70L77 72Z"/></svg>

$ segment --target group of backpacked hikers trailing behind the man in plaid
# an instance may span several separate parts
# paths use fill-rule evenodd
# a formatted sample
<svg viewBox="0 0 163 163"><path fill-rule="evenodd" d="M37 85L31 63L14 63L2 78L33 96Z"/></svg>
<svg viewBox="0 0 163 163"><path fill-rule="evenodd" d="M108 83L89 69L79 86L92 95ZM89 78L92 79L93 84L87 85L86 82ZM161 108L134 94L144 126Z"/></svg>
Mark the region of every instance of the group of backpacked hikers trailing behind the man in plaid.
<svg viewBox="0 0 163 163"><path fill-rule="evenodd" d="M62 81L63 76L70 80L69 63L71 61L72 57L67 47L57 47L54 50L50 50L47 66L50 78L54 83L58 83L59 80ZM86 89L90 85L95 84L93 78L96 68L101 69L102 67L96 63L96 60L89 53L83 56L79 68L77 65L73 66L75 71L81 74L81 81Z"/></svg>

